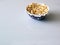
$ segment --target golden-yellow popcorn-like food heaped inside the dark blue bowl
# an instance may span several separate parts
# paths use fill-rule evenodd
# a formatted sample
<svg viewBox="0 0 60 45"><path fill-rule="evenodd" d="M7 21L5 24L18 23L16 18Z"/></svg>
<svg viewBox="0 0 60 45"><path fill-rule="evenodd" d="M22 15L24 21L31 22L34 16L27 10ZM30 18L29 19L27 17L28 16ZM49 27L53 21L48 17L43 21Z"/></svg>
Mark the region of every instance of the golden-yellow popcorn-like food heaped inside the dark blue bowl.
<svg viewBox="0 0 60 45"><path fill-rule="evenodd" d="M41 15L48 13L46 4L31 3L26 7L26 10L31 14Z"/></svg>

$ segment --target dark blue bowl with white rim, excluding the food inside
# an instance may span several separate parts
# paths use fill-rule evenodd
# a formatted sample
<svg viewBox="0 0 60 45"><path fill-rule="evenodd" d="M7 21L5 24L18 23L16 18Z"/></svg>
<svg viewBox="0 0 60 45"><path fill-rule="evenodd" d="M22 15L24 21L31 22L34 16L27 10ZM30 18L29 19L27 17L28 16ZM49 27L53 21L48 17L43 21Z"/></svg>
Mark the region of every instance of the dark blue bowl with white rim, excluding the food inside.
<svg viewBox="0 0 60 45"><path fill-rule="evenodd" d="M35 4L38 4L38 3L35 3ZM40 5L44 5L43 3L39 3ZM45 4L46 5L46 4ZM46 5L47 6L47 5ZM47 6L47 9L49 11L49 7ZM32 17L33 19L36 19L36 20L44 20L46 15L48 14L47 13L44 13L44 14L33 14L33 13L30 13L29 11L27 11L27 7L26 7L26 12L27 14Z"/></svg>

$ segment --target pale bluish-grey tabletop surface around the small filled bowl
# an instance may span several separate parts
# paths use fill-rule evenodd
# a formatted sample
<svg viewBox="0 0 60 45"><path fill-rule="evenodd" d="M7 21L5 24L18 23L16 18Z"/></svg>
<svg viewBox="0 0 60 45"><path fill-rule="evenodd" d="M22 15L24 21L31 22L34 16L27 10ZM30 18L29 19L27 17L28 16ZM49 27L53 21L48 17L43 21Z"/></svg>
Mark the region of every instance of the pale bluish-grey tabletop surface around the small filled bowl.
<svg viewBox="0 0 60 45"><path fill-rule="evenodd" d="M27 15L31 2L49 5L47 20ZM60 0L0 0L0 45L60 45Z"/></svg>

